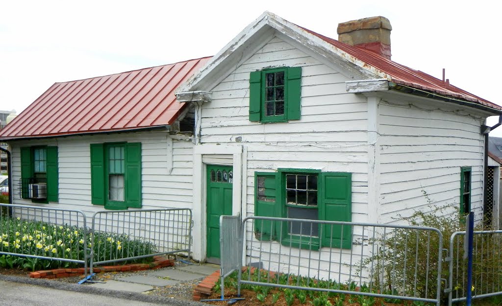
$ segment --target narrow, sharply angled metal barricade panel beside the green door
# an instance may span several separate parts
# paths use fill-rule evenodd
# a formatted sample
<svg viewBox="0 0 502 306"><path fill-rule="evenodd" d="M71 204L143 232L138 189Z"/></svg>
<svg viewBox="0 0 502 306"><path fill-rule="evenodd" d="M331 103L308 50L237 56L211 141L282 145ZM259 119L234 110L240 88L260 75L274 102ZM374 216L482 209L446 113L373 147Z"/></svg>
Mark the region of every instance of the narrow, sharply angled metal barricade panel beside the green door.
<svg viewBox="0 0 502 306"><path fill-rule="evenodd" d="M239 251L240 215L220 216L220 277L221 299L224 297L225 277L240 269L242 258Z"/></svg>

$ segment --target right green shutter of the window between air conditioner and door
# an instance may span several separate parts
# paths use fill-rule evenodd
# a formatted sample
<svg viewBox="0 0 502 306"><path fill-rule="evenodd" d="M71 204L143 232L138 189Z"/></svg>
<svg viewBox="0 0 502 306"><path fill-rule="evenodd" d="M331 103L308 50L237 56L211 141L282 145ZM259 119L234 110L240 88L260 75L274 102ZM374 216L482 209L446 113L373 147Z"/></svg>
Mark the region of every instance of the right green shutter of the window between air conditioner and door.
<svg viewBox="0 0 502 306"><path fill-rule="evenodd" d="M141 142L126 145L125 181L127 206L141 208Z"/></svg>

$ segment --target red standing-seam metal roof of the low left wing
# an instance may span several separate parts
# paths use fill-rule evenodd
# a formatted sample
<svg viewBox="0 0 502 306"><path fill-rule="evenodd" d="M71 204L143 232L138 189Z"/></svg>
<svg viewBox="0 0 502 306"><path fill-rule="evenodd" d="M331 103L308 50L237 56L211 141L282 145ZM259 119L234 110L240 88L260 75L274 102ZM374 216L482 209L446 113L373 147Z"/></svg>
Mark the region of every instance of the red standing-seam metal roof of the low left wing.
<svg viewBox="0 0 502 306"><path fill-rule="evenodd" d="M1 132L0 139L169 125L184 104L175 89L210 57L55 83Z"/></svg>

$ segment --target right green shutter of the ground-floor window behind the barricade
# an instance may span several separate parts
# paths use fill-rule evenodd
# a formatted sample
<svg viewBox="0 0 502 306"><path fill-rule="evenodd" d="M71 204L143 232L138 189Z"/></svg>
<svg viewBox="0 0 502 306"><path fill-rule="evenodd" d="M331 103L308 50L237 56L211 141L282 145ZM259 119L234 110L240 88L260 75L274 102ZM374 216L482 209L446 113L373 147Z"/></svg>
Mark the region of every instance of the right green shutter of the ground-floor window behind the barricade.
<svg viewBox="0 0 502 306"><path fill-rule="evenodd" d="M352 176L350 173L321 173L321 204L319 220L352 221ZM323 225L321 244L328 247L350 249L352 228L341 225Z"/></svg>

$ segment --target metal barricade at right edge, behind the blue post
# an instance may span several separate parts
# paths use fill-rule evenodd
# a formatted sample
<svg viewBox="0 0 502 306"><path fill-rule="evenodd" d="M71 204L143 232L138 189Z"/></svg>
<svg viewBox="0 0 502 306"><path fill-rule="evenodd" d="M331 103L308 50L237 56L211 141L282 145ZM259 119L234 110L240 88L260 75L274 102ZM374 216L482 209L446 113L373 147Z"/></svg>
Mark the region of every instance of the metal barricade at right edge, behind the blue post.
<svg viewBox="0 0 502 306"><path fill-rule="evenodd" d="M467 258L464 259L465 232L450 238L448 305L464 301L467 295ZM502 294L502 231L474 231L472 298Z"/></svg>

